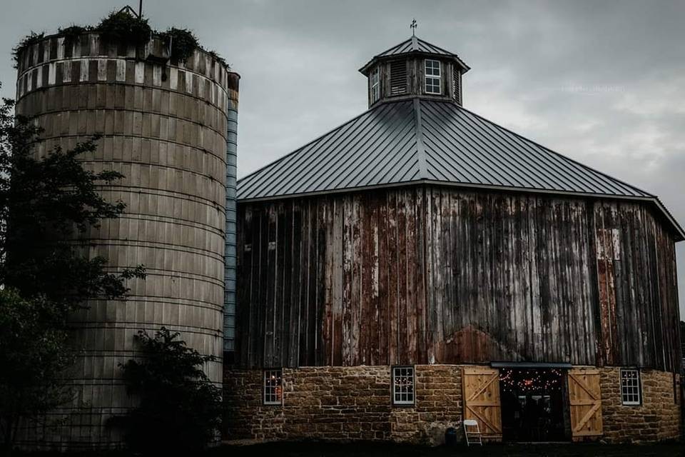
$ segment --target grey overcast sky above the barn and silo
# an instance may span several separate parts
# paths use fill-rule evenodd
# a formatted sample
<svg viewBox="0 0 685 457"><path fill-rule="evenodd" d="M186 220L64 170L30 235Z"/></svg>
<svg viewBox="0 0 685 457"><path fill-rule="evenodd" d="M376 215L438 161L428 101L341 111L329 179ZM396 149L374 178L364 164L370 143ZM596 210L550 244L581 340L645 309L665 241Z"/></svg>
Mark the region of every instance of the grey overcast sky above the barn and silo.
<svg viewBox="0 0 685 457"><path fill-rule="evenodd" d="M103 0L3 0L0 94L29 31L96 24ZM137 0L132 4L136 9ZM661 197L685 224L685 1L144 0L156 29L192 29L240 81L238 176L365 111L357 72L410 36L472 67L464 105ZM685 242L679 243L685 315Z"/></svg>

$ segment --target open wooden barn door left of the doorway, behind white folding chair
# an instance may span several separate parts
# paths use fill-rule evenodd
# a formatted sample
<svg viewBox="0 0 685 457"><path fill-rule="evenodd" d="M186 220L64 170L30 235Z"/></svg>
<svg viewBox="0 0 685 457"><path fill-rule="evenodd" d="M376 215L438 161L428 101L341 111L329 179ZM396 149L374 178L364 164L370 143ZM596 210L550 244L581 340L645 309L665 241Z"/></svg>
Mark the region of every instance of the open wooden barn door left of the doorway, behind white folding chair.
<svg viewBox="0 0 685 457"><path fill-rule="evenodd" d="M499 370L467 366L462 372L464 418L478 421L483 436L502 439Z"/></svg>

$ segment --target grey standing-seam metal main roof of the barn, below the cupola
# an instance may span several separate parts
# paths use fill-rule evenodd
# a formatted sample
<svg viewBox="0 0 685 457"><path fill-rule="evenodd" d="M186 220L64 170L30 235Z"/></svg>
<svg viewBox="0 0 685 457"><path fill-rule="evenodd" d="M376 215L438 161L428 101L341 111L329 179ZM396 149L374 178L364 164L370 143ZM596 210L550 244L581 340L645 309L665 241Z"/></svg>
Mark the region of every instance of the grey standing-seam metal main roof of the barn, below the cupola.
<svg viewBox="0 0 685 457"><path fill-rule="evenodd" d="M450 101L404 99L238 180L238 200L413 183L653 201L656 196L514 134Z"/></svg>

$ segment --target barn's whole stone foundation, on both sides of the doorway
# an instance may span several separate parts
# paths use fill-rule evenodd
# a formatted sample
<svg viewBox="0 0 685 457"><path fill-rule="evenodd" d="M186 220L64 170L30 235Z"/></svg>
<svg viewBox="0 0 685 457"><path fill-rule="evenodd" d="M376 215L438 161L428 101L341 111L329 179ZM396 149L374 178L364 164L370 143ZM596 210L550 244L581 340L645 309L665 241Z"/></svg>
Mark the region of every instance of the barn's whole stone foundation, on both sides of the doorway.
<svg viewBox="0 0 685 457"><path fill-rule="evenodd" d="M680 436L680 393L673 375L640 370L642 403L621 404L620 368L600 368L604 436L646 443ZM415 366L416 401L392 406L390 366L283 369L283 406L262 404L263 371L227 369L224 438L397 441L437 445L448 427L462 439L462 366Z"/></svg>

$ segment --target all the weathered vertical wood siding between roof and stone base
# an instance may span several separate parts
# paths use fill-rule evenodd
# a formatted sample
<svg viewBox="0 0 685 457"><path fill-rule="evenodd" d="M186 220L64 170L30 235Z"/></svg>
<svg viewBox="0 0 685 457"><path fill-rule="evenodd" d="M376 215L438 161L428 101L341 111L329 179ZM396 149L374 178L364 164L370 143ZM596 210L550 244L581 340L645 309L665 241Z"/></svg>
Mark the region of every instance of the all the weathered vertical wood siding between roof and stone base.
<svg viewBox="0 0 685 457"><path fill-rule="evenodd" d="M243 366L679 366L641 204L414 186L238 205Z"/></svg>

